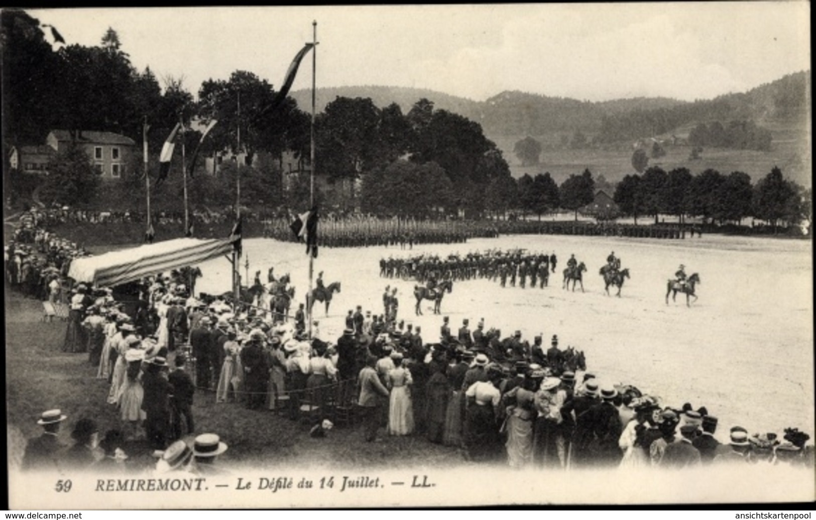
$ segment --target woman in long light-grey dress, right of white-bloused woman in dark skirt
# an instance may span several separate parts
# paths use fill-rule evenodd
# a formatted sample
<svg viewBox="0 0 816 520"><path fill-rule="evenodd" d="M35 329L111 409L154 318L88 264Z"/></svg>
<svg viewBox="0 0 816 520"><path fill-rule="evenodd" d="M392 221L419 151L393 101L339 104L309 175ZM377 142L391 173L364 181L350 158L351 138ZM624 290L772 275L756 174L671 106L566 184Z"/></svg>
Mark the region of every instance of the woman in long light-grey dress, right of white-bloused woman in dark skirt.
<svg viewBox="0 0 816 520"><path fill-rule="evenodd" d="M539 371L536 371L539 372ZM508 451L508 464L511 468L525 468L533 461L533 421L535 419L535 392L539 390L539 383L543 371L534 373L534 377L526 378L521 386L510 390L506 396L514 403L508 407L506 430L507 443L504 447Z"/></svg>

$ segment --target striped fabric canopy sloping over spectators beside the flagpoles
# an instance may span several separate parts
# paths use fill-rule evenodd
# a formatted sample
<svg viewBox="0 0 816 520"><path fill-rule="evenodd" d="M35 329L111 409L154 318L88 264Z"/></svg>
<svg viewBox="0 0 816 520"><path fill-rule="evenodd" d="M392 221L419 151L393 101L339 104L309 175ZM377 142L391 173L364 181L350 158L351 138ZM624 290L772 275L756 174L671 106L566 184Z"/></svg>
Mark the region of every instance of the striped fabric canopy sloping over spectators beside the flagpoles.
<svg viewBox="0 0 816 520"><path fill-rule="evenodd" d="M110 287L232 252L233 240L177 238L95 257L74 258L68 275L77 282Z"/></svg>

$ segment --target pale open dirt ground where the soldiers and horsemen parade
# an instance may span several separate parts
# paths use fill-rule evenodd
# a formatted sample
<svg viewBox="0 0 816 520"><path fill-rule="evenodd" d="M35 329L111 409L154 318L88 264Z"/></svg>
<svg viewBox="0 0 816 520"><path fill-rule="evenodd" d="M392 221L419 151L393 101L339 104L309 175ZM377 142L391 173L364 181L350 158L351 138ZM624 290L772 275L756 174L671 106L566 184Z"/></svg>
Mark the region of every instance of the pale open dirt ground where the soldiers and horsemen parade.
<svg viewBox="0 0 816 520"><path fill-rule="evenodd" d="M814 424L814 351L811 244L703 236L686 240L642 240L574 236L509 236L471 240L465 245L397 248L321 249L314 272L324 271L326 285L343 284L330 313L321 321L323 337L336 338L344 315L356 305L382 311L386 284L399 289L400 316L422 326L426 341L438 337L441 317L424 302L414 313L413 283L379 278L379 258L419 253L467 253L470 250L526 247L555 251L557 275L545 289L500 289L486 280L460 282L446 294L442 312L459 327L463 318L504 334L520 329L532 340L558 334L561 347L584 350L588 370L604 381L631 383L659 395L667 404L706 406L720 417L720 437L731 425L752 431L782 432L787 426L809 430ZM598 269L614 250L632 278L621 297L607 297ZM561 289L561 271L570 253L586 262L584 289ZM249 273L268 267L290 272L295 297L308 287L308 258L301 245L273 240L245 240ZM683 295L665 302L667 278L684 263L698 272L698 300L685 306ZM213 260L201 266L197 290L229 290L229 264ZM242 275L245 268L242 267ZM725 434L723 434L725 432Z"/></svg>

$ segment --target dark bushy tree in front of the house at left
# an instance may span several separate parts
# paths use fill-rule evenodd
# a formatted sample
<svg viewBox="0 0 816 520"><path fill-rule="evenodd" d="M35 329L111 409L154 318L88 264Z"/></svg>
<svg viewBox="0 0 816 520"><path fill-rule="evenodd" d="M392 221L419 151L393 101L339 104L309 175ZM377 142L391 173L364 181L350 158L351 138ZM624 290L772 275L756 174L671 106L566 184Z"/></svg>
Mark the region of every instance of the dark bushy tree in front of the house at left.
<svg viewBox="0 0 816 520"><path fill-rule="evenodd" d="M71 144L51 158L42 187L45 201L59 205L82 205L95 199L101 178L82 147Z"/></svg>

